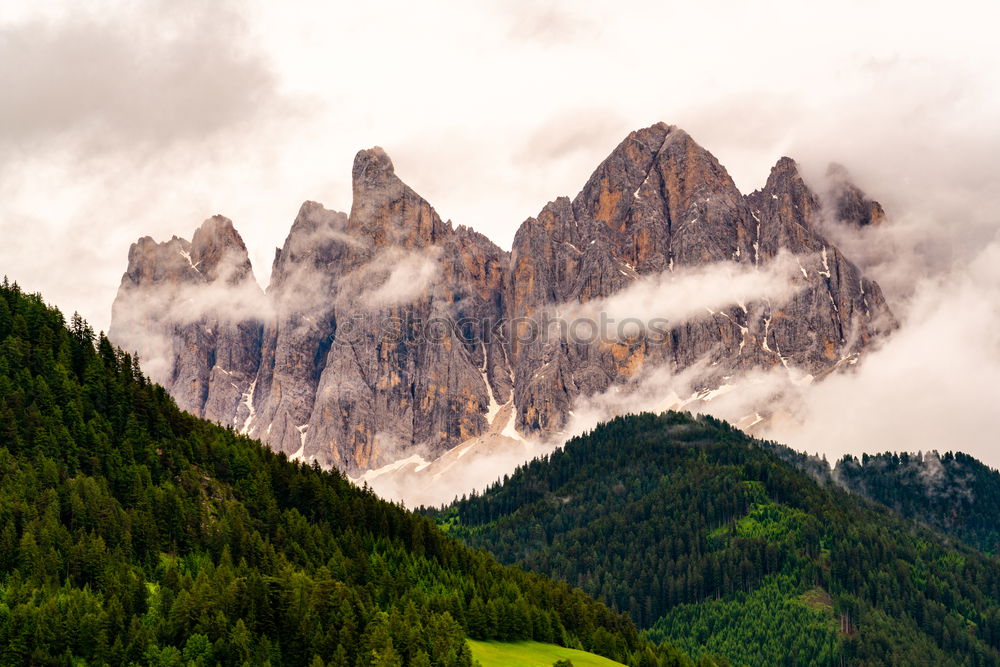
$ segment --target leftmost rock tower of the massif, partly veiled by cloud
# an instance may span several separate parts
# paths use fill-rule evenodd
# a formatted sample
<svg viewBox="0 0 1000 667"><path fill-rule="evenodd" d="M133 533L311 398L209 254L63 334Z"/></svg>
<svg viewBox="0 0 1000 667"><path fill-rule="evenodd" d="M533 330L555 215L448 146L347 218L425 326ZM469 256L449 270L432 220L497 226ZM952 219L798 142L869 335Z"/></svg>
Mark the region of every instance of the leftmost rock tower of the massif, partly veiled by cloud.
<svg viewBox="0 0 1000 667"><path fill-rule="evenodd" d="M222 216L192 240L139 239L112 307L109 336L192 414L237 424L260 364L264 295L243 239Z"/></svg>

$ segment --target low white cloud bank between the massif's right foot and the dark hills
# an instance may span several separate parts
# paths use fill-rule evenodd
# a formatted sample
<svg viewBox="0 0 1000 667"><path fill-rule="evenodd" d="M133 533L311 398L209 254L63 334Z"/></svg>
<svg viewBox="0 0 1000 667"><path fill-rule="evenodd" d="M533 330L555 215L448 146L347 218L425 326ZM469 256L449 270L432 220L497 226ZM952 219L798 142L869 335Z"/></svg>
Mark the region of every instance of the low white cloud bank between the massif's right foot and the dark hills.
<svg viewBox="0 0 1000 667"><path fill-rule="evenodd" d="M859 234L863 234L858 232ZM906 260L902 260L906 261ZM681 373L652 368L573 406L569 435L610 417L685 409L830 459L845 453L960 450L1000 465L1000 238L946 276L922 278L901 303L901 326L859 362L805 382L794 369L743 373L699 392L704 362ZM707 400L695 400L697 397Z"/></svg>

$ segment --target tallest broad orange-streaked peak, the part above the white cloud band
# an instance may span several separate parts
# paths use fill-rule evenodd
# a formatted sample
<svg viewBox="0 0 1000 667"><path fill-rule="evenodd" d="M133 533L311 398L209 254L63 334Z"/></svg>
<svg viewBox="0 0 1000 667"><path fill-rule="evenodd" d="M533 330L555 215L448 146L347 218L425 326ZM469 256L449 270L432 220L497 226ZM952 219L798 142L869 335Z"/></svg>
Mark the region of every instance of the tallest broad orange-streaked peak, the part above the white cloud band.
<svg viewBox="0 0 1000 667"><path fill-rule="evenodd" d="M746 205L725 168L685 131L631 132L580 193L549 202L515 236L512 319L540 302L613 293L636 275L746 258Z"/></svg>

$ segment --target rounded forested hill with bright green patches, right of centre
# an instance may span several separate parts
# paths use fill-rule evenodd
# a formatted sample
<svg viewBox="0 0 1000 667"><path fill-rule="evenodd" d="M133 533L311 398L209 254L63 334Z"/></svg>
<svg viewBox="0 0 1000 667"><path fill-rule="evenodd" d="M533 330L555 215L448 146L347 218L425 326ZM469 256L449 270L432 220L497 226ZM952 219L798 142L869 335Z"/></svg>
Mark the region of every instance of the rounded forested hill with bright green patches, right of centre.
<svg viewBox="0 0 1000 667"><path fill-rule="evenodd" d="M1000 562L712 419L618 418L433 512L735 664L1000 663Z"/></svg>

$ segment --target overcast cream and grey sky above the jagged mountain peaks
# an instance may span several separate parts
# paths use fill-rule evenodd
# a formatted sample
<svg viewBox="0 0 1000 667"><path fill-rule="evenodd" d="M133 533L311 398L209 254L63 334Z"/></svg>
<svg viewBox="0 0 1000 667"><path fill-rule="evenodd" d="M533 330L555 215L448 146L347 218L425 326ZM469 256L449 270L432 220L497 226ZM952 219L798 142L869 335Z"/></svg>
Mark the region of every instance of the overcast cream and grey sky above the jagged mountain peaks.
<svg viewBox="0 0 1000 667"><path fill-rule="evenodd" d="M442 217L509 247L630 130L663 120L745 192L784 154L812 172L847 165L891 226L839 241L920 348L921 327L945 317L934 299L954 306L948 290L985 304L976 322L1000 323L996 285L982 284L1000 282L982 259L1000 220L994 13L871 0L7 0L0 272L106 328L129 244L190 238L221 213L266 285L301 202L348 210L354 154L372 145ZM1000 381L996 340L970 349L988 360L970 366L979 380Z"/></svg>

